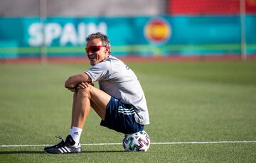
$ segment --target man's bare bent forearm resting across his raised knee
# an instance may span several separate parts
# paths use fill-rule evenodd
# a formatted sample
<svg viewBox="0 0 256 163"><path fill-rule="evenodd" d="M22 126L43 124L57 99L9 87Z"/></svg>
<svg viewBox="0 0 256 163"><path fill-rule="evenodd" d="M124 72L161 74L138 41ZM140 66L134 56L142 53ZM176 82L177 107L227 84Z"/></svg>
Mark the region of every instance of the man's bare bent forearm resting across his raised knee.
<svg viewBox="0 0 256 163"><path fill-rule="evenodd" d="M90 82L92 79L86 74L76 74L68 78L68 80L65 81L65 88L67 89L75 89L75 86L82 82Z"/></svg>

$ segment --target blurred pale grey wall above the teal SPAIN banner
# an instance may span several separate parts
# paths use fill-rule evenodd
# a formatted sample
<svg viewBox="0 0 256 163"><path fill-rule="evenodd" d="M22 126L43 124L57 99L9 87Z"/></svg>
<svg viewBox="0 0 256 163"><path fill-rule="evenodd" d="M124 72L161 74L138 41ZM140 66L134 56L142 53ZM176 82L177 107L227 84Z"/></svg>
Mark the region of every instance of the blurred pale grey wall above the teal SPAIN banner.
<svg viewBox="0 0 256 163"><path fill-rule="evenodd" d="M38 16L40 0L1 0L0 16ZM43 1L43 0L42 0ZM48 16L156 16L166 0L46 0Z"/></svg>

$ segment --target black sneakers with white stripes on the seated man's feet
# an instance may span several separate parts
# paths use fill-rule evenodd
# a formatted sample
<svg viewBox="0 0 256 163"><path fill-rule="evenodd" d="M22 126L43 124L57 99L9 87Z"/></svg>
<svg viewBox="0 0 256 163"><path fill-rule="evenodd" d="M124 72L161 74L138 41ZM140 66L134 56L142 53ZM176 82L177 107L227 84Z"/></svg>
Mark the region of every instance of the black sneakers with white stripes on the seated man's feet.
<svg viewBox="0 0 256 163"><path fill-rule="evenodd" d="M65 139L65 141L60 136L57 136L57 138L61 139L61 142L58 143L57 145L45 147L44 151L46 153L64 154L64 153L80 153L80 152L82 152L80 143L78 144L78 146L74 146L75 141L73 140L71 135L68 135L67 138Z"/></svg>

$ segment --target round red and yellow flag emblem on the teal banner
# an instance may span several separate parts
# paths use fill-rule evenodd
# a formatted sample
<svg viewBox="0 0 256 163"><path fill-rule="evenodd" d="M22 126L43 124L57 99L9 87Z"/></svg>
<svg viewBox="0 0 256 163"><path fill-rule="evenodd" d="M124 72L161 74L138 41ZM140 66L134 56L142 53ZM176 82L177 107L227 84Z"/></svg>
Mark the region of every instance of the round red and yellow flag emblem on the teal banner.
<svg viewBox="0 0 256 163"><path fill-rule="evenodd" d="M163 18L154 18L146 23L144 35L154 43L163 43L170 38L171 26Z"/></svg>

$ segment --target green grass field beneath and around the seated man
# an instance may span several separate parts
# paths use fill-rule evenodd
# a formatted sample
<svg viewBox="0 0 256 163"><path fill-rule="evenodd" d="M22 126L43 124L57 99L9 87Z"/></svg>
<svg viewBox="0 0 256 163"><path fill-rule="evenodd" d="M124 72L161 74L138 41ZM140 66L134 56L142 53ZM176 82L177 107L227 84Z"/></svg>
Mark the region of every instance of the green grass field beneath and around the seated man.
<svg viewBox="0 0 256 163"><path fill-rule="evenodd" d="M89 65L0 64L0 162L256 162L256 62L128 65L149 106L148 152L83 145L82 154L45 154L43 145L70 128L72 94L64 81ZM122 134L99 123L92 110L81 143L122 142Z"/></svg>

